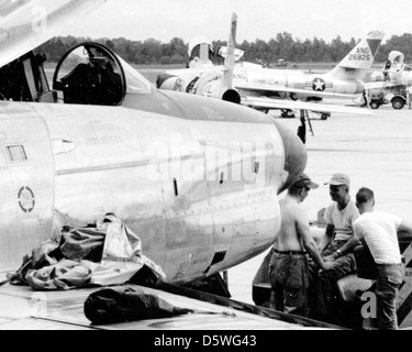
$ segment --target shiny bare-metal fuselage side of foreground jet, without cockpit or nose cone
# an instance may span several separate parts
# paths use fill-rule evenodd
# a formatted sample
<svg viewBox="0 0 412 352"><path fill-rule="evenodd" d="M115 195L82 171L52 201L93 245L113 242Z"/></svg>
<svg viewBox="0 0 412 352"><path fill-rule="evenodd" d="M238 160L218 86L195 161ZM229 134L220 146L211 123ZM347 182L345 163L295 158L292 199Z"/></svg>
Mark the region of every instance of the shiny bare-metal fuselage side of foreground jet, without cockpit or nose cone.
<svg viewBox="0 0 412 352"><path fill-rule="evenodd" d="M60 226L86 226L105 212L141 237L145 255L171 282L241 263L277 233L285 151L265 116L209 103L182 118L120 107L0 106L3 270Z"/></svg>

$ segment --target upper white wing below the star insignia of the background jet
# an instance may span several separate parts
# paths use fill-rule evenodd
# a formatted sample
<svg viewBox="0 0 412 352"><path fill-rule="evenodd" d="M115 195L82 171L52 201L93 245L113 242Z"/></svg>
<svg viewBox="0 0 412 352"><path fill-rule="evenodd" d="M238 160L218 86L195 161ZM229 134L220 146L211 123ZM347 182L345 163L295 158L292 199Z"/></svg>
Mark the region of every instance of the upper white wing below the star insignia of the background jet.
<svg viewBox="0 0 412 352"><path fill-rule="evenodd" d="M291 87L281 87L276 85L258 85L258 84L242 84L242 82L234 82L234 87L236 89L242 89L245 91L254 91L254 92L290 92L290 94L299 94L299 95L308 95L310 97L319 97L319 98L348 98L354 99L358 95L346 95L346 94L337 94L337 92L325 92L325 91L315 91L315 90L307 90L307 89L297 89Z"/></svg>

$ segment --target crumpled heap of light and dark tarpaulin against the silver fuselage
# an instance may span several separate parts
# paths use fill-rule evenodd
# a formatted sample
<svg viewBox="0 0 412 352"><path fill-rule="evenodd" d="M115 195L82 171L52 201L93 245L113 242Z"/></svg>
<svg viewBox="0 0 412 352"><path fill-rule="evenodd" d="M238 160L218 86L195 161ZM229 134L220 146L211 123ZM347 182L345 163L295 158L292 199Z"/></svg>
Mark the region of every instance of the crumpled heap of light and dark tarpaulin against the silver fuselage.
<svg viewBox="0 0 412 352"><path fill-rule="evenodd" d="M93 227L64 227L59 239L34 249L24 280L36 290L122 285L144 266L166 278L162 267L142 254L141 239L116 216L105 215Z"/></svg>

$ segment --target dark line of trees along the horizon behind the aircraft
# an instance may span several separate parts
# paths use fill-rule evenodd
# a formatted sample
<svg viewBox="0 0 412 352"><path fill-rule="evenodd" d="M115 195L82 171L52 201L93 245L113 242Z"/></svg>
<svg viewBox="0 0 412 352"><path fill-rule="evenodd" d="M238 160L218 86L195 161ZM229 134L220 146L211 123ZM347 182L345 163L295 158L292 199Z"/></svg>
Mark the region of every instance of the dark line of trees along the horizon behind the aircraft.
<svg viewBox="0 0 412 352"><path fill-rule="evenodd" d="M57 62L66 51L85 41L90 41L90 38L57 36L44 43L38 51L46 54L48 62ZM136 65L185 64L188 61L187 44L179 37L172 38L169 43L162 43L155 38L130 41L124 37L99 38L93 40L93 42L107 45L118 55ZM318 37L301 41L293 38L290 33L283 32L278 33L276 37L267 42L263 40L243 41L237 43L236 47L245 52L244 59L247 62L272 64L281 58L291 63L337 63L358 42L359 40L354 37L345 42L341 36L336 36L330 43ZM218 50L226 45L226 42L213 41L212 44ZM380 46L376 62L386 62L391 51L399 51L404 54L407 62L411 61L412 34L404 33L391 36ZM219 58L213 58L213 61L218 62Z"/></svg>

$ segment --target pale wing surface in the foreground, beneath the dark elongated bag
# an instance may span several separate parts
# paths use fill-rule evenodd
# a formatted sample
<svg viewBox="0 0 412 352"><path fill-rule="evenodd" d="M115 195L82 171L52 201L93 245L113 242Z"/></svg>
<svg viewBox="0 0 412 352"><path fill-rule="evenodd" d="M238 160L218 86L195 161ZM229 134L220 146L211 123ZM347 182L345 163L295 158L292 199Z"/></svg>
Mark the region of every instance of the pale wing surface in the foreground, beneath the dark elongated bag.
<svg viewBox="0 0 412 352"><path fill-rule="evenodd" d="M125 287L125 286L123 286ZM188 315L170 315L119 323L92 324L83 306L90 294L104 287L59 292L33 292L26 286L0 288L0 330L313 330L339 329L336 326L259 308L188 290L170 284L159 288L126 285L138 293L158 297L169 305L190 309ZM111 287L115 288L115 287Z"/></svg>

